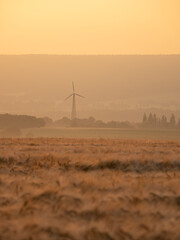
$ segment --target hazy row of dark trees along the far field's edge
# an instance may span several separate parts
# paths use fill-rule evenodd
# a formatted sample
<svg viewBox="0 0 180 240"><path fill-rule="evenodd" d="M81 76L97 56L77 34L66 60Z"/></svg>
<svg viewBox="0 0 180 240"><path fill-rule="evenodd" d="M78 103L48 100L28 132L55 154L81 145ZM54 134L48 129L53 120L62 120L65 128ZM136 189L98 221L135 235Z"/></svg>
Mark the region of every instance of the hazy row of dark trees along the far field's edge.
<svg viewBox="0 0 180 240"><path fill-rule="evenodd" d="M40 128L45 126L54 127L85 127L85 128L157 128L157 129L180 129L180 119L176 120L174 114L168 119L165 115L157 117L154 113L144 113L141 123L128 121L96 120L94 117L71 120L67 117L53 121L48 117L37 118L27 115L0 114L0 129L12 131L16 128Z"/></svg>

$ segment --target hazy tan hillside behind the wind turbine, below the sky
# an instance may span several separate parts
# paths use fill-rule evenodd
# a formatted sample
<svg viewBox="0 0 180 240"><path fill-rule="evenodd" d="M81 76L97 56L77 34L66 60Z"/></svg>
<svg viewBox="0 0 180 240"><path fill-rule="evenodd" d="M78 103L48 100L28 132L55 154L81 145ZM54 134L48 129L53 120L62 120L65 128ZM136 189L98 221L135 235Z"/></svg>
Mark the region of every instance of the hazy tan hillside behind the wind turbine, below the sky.
<svg viewBox="0 0 180 240"><path fill-rule="evenodd" d="M0 56L0 112L69 117L74 81L86 97L79 118L140 121L148 109L180 117L179 66L180 55Z"/></svg>

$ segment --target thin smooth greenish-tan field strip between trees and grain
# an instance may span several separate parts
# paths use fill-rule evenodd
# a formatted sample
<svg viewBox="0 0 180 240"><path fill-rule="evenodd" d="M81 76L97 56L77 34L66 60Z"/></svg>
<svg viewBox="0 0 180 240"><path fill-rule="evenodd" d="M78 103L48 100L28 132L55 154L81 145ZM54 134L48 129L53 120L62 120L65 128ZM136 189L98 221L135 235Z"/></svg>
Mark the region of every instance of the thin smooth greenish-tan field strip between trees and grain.
<svg viewBox="0 0 180 240"><path fill-rule="evenodd" d="M58 128L25 129L24 137L109 138L109 139L171 139L180 140L177 129L122 129L122 128Z"/></svg>

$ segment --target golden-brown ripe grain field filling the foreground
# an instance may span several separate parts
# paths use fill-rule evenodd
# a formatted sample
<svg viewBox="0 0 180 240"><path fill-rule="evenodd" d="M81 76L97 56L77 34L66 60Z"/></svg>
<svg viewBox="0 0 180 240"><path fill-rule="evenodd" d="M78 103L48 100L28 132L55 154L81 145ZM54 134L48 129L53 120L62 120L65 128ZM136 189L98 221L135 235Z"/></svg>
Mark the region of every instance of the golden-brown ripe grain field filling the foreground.
<svg viewBox="0 0 180 240"><path fill-rule="evenodd" d="M179 240L180 141L0 139L1 240Z"/></svg>

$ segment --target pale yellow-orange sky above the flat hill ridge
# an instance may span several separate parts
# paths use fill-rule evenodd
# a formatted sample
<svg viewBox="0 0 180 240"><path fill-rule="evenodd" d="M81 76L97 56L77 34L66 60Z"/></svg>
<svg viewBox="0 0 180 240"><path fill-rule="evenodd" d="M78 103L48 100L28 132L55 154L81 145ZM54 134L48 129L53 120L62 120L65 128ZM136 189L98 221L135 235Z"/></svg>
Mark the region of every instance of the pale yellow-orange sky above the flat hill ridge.
<svg viewBox="0 0 180 240"><path fill-rule="evenodd" d="M0 54L180 53L179 0L0 0Z"/></svg>

